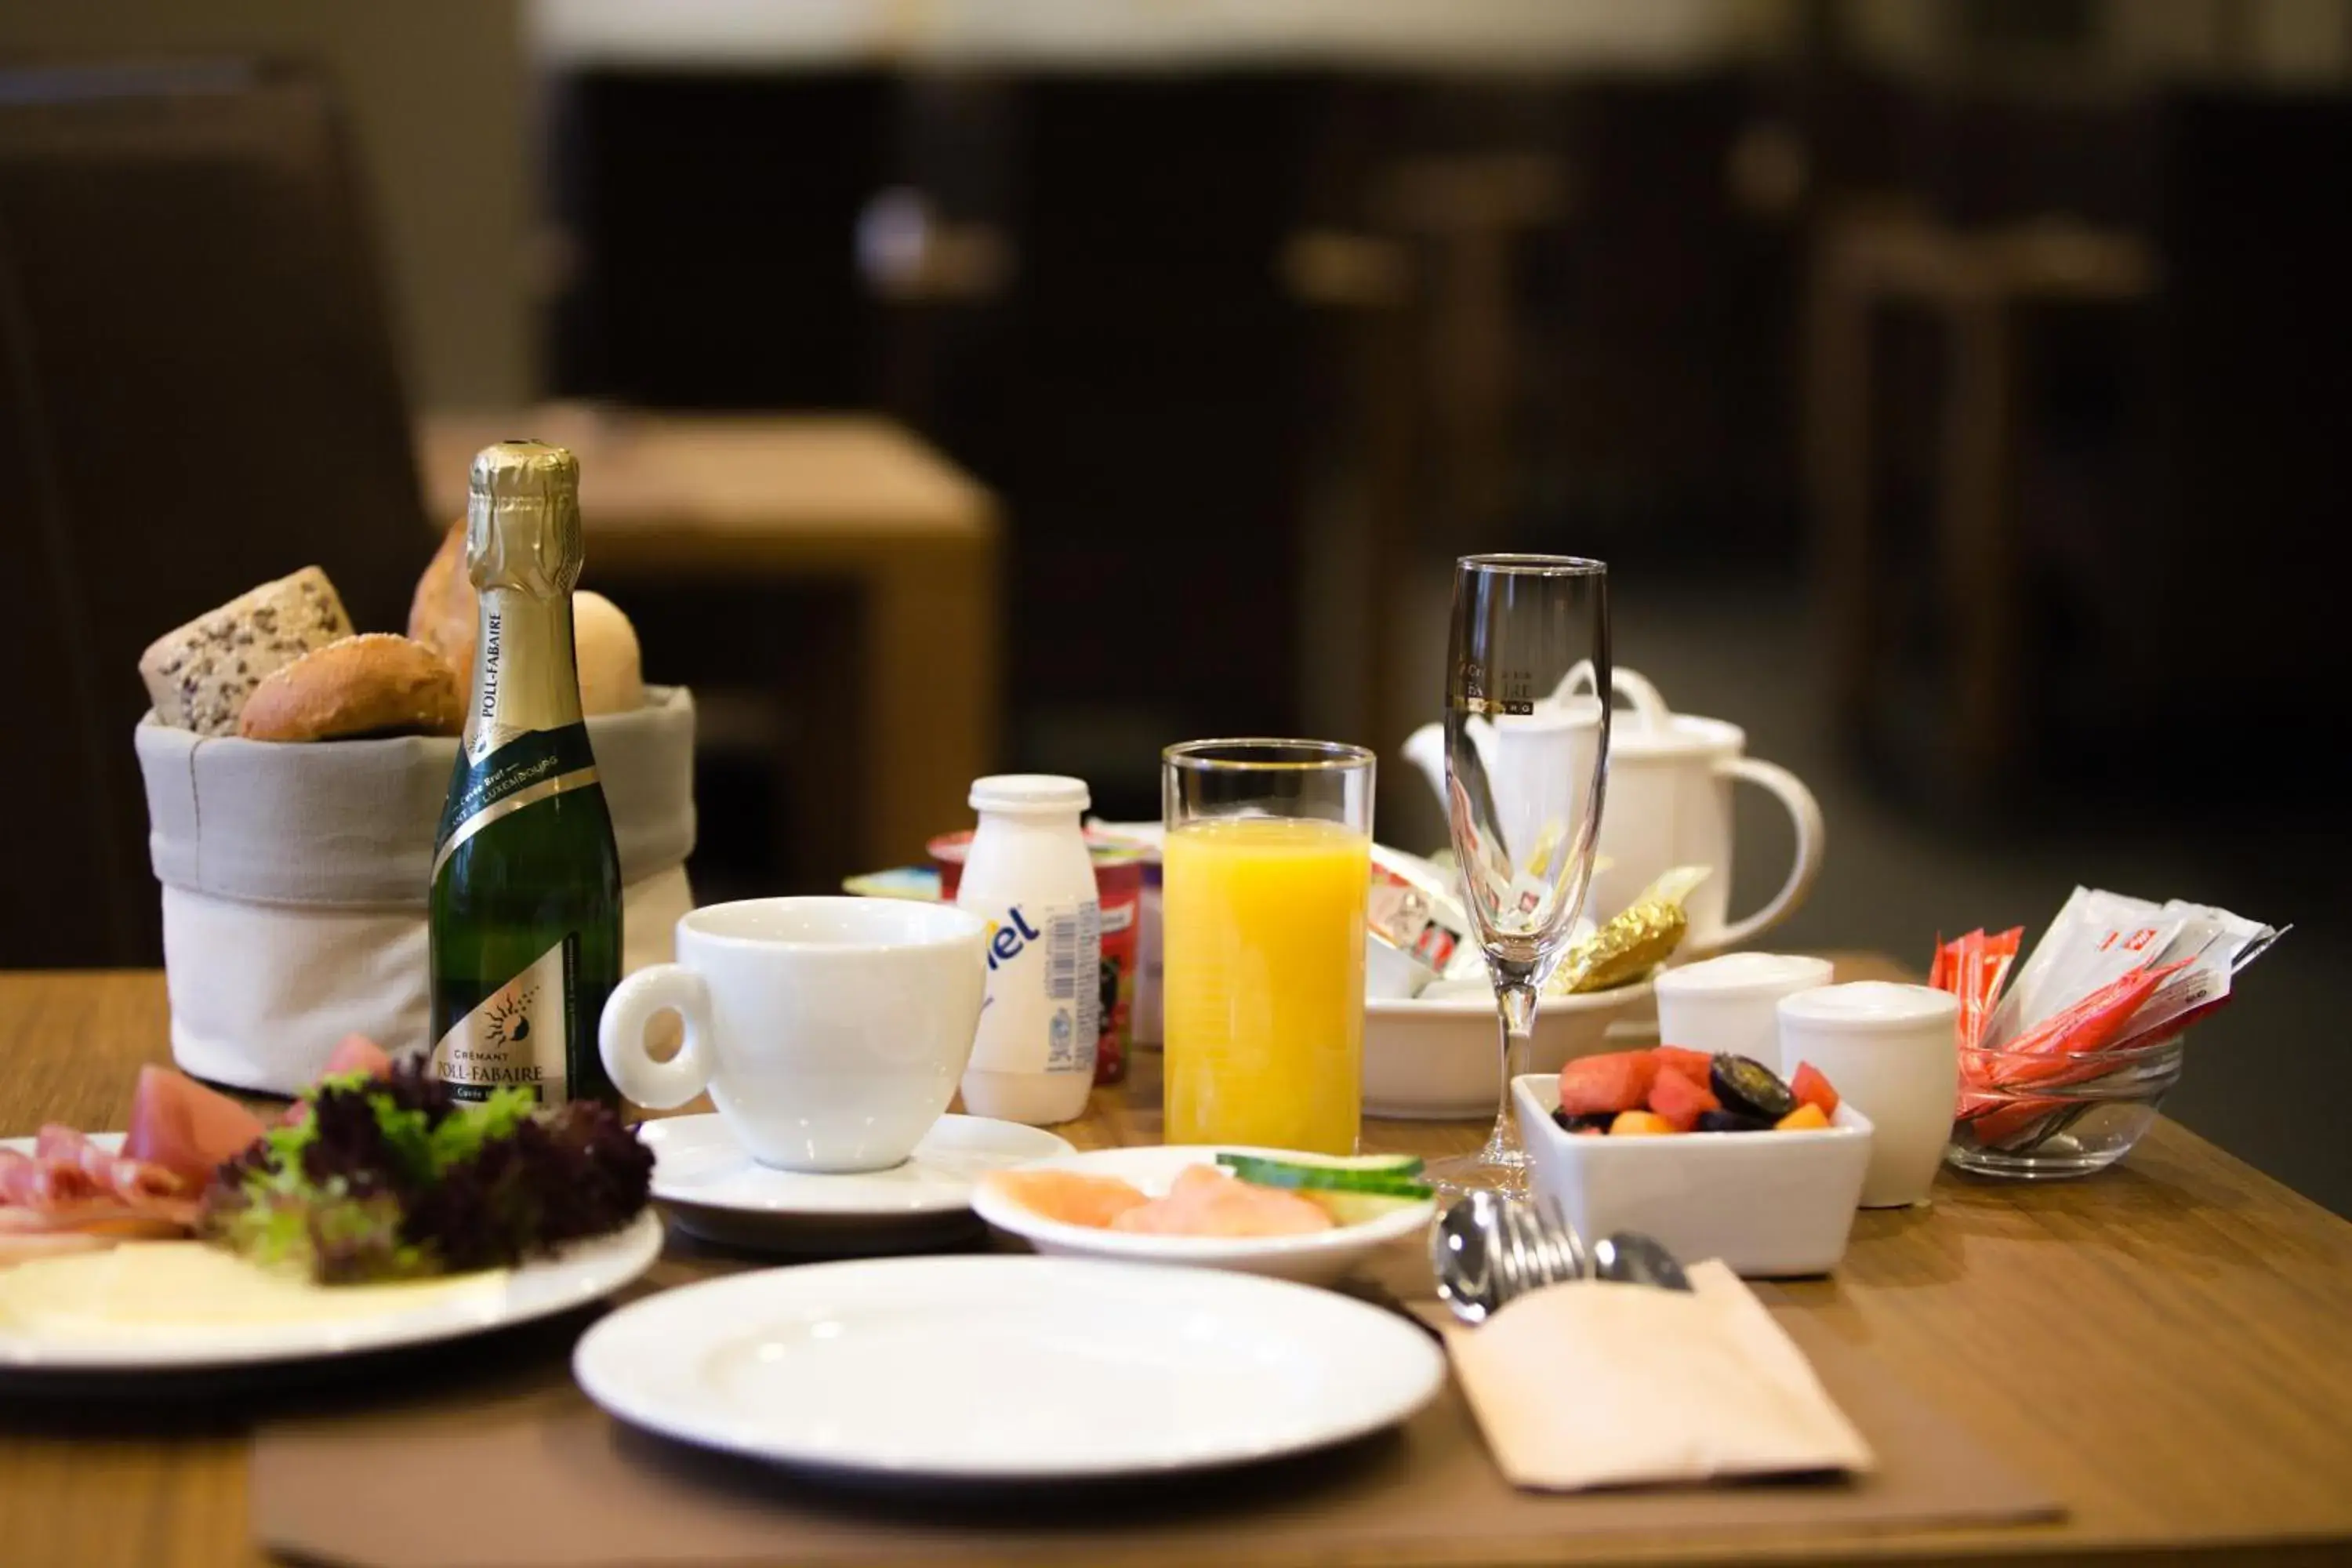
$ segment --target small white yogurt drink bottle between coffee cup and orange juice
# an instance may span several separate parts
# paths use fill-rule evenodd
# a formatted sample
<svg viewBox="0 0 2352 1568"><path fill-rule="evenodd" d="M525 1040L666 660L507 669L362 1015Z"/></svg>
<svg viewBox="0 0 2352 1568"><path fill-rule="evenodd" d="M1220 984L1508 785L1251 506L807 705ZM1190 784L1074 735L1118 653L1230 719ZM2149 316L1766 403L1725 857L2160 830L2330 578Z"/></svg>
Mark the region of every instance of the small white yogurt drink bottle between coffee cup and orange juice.
<svg viewBox="0 0 2352 1568"><path fill-rule="evenodd" d="M1103 1023L1087 804L1082 778L1000 773L971 785L981 827L955 903L988 922L988 1001L964 1070L974 1117L1042 1126L1087 1110Z"/></svg>

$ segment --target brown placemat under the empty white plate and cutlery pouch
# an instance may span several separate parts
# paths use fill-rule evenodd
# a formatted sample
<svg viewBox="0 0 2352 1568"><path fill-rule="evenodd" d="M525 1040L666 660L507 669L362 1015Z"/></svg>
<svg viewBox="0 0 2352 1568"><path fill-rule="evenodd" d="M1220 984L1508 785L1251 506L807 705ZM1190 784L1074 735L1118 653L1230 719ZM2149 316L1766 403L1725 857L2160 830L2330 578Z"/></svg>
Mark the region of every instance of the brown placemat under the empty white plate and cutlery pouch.
<svg viewBox="0 0 2352 1568"><path fill-rule="evenodd" d="M656 1279L680 1284L675 1265ZM666 1279L663 1279L666 1276ZM1776 1312L1875 1446L1867 1479L1531 1495L1496 1472L1461 1392L1402 1429L1279 1465L1150 1486L913 1490L823 1483L609 1420L562 1356L365 1413L266 1425L261 1544L367 1568L619 1563L1512 1559L1578 1537L1879 1533L2060 1516L2058 1500L1860 1352ZM557 1340L560 1342L560 1340ZM1562 1389L1573 1399L1573 1389Z"/></svg>

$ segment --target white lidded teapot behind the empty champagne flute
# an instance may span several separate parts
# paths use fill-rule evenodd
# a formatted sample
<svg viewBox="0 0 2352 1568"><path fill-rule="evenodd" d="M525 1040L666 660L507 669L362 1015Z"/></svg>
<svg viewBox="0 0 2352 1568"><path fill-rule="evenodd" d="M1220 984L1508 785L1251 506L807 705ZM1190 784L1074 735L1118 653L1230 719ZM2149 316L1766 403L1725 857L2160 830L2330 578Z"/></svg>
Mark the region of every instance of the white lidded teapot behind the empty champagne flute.
<svg viewBox="0 0 2352 1568"><path fill-rule="evenodd" d="M1578 722L1592 698L1578 696L1590 670L1578 668L1543 708L1555 724L1578 733L1597 733L1597 724ZM1609 790L1602 804L1599 856L1585 910L1606 919L1630 905L1661 872L1675 865L1708 865L1712 877L1698 884L1686 910L1691 933L1682 957L1703 957L1755 940L1797 912L1820 875L1825 832L1820 802L1795 773L1771 762L1745 757L1748 733L1738 724L1672 712L1658 689L1635 670L1616 670L1611 686L1630 708L1609 722ZM1541 715L1543 710L1538 710ZM1472 719L1479 726L1482 719ZM1552 729L1545 724L1543 729ZM1486 755L1498 790L1512 790L1512 752L1498 748L1498 736L1472 729L1472 741ZM1404 759L1421 769L1446 799L1446 738L1442 724L1423 724L1404 741ZM1543 769L1545 776L1573 776L1573 769ZM1764 785L1788 806L1797 825L1797 860L1780 891L1755 914L1731 922L1731 785ZM1501 802L1498 802L1501 804ZM1510 806L1503 806L1505 813Z"/></svg>

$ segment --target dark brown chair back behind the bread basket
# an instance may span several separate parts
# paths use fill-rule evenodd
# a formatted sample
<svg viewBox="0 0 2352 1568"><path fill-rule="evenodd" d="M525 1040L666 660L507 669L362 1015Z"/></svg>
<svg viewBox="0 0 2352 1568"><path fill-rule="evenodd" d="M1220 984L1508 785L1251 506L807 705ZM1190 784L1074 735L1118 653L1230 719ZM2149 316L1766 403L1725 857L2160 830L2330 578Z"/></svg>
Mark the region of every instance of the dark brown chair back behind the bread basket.
<svg viewBox="0 0 2352 1568"><path fill-rule="evenodd" d="M139 651L430 552L346 125L245 63L0 73L0 964L153 964Z"/></svg>

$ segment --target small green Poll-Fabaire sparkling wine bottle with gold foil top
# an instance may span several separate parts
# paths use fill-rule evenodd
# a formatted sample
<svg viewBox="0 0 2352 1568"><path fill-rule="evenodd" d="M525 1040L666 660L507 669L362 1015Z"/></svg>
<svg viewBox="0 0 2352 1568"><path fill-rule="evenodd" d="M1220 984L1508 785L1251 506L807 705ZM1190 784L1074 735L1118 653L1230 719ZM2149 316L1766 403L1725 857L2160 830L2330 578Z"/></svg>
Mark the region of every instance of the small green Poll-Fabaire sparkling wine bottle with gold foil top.
<svg viewBox="0 0 2352 1568"><path fill-rule="evenodd" d="M621 983L621 856L581 719L572 585L579 463L499 442L473 461L473 701L433 849L433 1072L461 1100L520 1084L619 1103L597 1020Z"/></svg>

